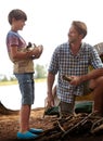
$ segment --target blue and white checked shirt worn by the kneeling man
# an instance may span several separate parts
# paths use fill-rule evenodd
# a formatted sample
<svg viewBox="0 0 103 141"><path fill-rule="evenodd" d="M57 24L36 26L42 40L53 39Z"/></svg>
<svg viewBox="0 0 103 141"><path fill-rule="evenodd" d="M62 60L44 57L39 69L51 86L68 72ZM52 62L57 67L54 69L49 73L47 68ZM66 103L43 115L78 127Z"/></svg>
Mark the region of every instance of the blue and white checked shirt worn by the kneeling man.
<svg viewBox="0 0 103 141"><path fill-rule="evenodd" d="M73 95L83 94L83 84L79 86L69 85L66 80L62 79L63 75L81 76L88 74L89 66L93 68L102 68L102 61L96 50L88 43L82 42L77 55L72 53L69 43L59 46L52 55L49 72L57 74L57 97L64 102L72 102Z"/></svg>

